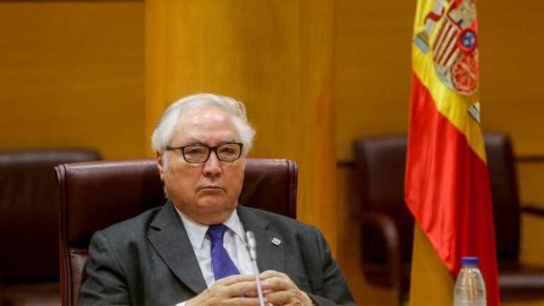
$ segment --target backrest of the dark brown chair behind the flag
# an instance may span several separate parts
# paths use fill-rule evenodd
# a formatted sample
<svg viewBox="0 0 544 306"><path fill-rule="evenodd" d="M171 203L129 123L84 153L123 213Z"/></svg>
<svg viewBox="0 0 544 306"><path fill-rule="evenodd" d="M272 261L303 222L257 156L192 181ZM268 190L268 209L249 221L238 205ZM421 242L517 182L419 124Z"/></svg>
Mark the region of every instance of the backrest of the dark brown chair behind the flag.
<svg viewBox="0 0 544 306"><path fill-rule="evenodd" d="M485 133L487 167L491 185L497 259L518 259L519 195L511 142L504 133ZM356 141L356 160L361 179L363 210L392 217L399 231L403 261L412 258L412 214L404 204L404 170L407 137L374 137ZM364 262L385 261L382 241L373 232L364 234Z"/></svg>

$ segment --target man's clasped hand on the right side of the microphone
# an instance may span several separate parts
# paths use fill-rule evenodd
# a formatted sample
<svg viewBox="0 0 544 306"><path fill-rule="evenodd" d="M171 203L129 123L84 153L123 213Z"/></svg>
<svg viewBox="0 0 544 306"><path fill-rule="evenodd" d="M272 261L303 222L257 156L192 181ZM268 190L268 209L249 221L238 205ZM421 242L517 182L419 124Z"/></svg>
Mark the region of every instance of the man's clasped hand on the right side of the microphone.
<svg viewBox="0 0 544 306"><path fill-rule="evenodd" d="M310 297L302 292L284 273L264 271L261 273L261 286L267 303L273 305L313 305Z"/></svg>

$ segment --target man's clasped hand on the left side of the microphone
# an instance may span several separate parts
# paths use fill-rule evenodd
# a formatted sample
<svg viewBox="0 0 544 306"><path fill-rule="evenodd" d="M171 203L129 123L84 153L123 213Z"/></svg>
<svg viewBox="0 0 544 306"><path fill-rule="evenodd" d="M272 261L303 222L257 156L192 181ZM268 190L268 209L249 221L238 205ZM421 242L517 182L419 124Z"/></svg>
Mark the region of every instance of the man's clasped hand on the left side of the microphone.
<svg viewBox="0 0 544 306"><path fill-rule="evenodd" d="M259 306L255 276L234 275L222 278L186 302L186 306L248 305ZM244 297L246 295L246 297Z"/></svg>

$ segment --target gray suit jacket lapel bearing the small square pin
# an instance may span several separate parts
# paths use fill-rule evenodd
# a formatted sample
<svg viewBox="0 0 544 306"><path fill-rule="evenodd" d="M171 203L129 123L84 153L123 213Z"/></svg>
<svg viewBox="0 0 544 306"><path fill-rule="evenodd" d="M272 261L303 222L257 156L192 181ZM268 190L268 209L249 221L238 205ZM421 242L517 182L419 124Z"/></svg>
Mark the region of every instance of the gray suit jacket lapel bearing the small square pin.
<svg viewBox="0 0 544 306"><path fill-rule="evenodd" d="M257 243L257 266L259 271L275 270L285 272L285 249L283 243L273 244L274 238L283 238L272 229L269 222L259 218L254 212L242 205L237 206L238 217L244 225L244 230L255 234Z"/></svg>

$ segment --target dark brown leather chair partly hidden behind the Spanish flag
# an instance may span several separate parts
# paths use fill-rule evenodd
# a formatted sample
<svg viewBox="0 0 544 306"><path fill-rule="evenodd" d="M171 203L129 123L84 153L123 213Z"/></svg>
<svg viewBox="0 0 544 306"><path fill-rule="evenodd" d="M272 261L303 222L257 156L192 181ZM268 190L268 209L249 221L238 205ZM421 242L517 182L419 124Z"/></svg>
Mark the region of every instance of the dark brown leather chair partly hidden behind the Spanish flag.
<svg viewBox="0 0 544 306"><path fill-rule="evenodd" d="M544 217L544 210L519 203L509 137L484 135L491 183L501 300L544 298L544 267L519 261L520 212ZM362 266L370 283L399 292L407 300L414 219L404 204L407 138L375 137L356 141L361 203Z"/></svg>

